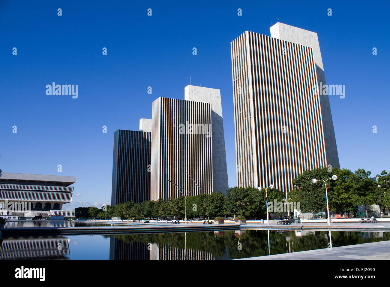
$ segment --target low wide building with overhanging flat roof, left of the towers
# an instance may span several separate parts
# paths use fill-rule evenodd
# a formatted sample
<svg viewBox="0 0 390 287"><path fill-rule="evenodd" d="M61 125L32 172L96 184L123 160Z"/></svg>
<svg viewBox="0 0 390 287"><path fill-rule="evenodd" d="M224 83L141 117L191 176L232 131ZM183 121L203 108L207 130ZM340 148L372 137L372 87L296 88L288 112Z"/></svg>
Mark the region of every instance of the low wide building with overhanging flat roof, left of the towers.
<svg viewBox="0 0 390 287"><path fill-rule="evenodd" d="M74 210L62 210L72 202L75 176L0 174L0 214L34 217L74 217ZM12 218L11 218L12 219Z"/></svg>

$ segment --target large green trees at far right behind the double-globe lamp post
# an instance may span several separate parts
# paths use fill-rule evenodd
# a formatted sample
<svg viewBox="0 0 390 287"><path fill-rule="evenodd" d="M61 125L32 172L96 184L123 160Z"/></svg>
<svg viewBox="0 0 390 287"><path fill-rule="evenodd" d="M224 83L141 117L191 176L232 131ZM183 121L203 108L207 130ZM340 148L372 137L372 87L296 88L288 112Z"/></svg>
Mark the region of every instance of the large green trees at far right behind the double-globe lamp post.
<svg viewBox="0 0 390 287"><path fill-rule="evenodd" d="M326 180L337 175L337 180L328 180L328 199L331 211L342 210L344 214L357 212L358 205L364 205L366 216L369 206L377 204L381 209L390 205L390 174L385 170L377 175L378 183L371 178L371 171L358 169L317 168L305 171L293 180L294 189L287 194L289 201L300 202L302 212L321 212L326 210L325 185L313 178Z"/></svg>

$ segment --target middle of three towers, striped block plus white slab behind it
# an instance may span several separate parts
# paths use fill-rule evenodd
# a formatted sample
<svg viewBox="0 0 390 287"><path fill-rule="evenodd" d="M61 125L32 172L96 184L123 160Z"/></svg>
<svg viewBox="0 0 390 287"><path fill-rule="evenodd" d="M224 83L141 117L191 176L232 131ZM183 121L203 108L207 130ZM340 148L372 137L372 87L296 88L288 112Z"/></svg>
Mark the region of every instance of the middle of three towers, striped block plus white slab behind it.
<svg viewBox="0 0 390 287"><path fill-rule="evenodd" d="M153 102L151 200L227 193L227 168L221 94L218 89L186 86L184 100ZM172 184L172 182L174 184Z"/></svg>

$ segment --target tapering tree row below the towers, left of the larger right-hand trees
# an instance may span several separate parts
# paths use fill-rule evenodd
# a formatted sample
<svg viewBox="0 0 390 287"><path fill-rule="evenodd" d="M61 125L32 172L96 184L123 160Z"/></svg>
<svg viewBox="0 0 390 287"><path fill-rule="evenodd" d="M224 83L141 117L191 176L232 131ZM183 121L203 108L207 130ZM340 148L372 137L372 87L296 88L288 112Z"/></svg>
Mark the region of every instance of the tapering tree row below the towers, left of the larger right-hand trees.
<svg viewBox="0 0 390 287"><path fill-rule="evenodd" d="M284 194L278 189L269 189L268 198L283 199ZM187 218L243 215L246 218L260 218L266 214L265 191L255 188L232 187L227 196L220 191L211 194L187 196ZM96 207L78 207L76 217L111 218L184 218L184 196L167 201L145 200L142 203L128 201L115 206L105 205L102 209Z"/></svg>

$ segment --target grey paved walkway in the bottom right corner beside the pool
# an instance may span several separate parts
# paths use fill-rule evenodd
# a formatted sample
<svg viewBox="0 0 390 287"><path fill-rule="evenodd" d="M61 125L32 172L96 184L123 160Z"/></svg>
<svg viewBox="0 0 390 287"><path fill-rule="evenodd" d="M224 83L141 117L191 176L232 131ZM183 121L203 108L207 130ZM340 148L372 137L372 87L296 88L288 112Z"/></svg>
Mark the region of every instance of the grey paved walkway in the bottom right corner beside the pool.
<svg viewBox="0 0 390 287"><path fill-rule="evenodd" d="M390 241L250 257L235 260L390 260Z"/></svg>

